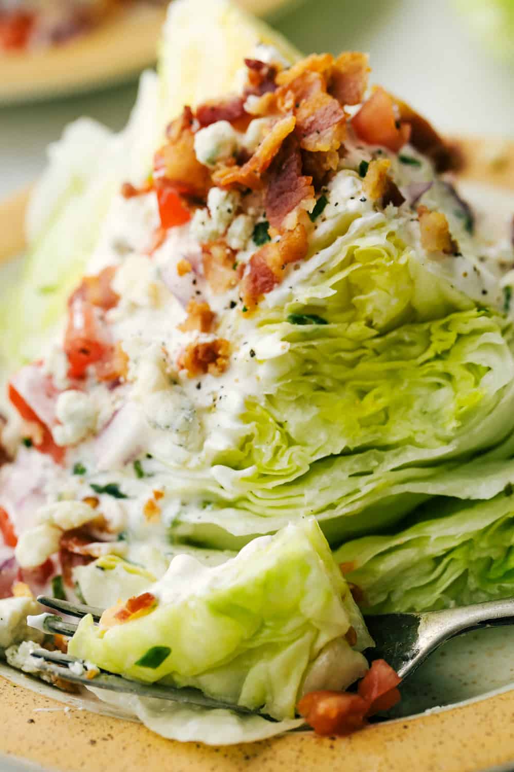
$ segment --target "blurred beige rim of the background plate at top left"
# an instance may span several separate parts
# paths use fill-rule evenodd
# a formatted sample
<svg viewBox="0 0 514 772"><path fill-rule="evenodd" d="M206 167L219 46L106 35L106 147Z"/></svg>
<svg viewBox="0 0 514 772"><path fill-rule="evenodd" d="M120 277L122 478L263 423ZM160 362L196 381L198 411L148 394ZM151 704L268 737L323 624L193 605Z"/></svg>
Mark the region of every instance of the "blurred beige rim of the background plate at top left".
<svg viewBox="0 0 514 772"><path fill-rule="evenodd" d="M239 0L270 15L291 0ZM130 80L156 59L166 10L136 5L63 46L41 52L0 52L0 106L62 97Z"/></svg>

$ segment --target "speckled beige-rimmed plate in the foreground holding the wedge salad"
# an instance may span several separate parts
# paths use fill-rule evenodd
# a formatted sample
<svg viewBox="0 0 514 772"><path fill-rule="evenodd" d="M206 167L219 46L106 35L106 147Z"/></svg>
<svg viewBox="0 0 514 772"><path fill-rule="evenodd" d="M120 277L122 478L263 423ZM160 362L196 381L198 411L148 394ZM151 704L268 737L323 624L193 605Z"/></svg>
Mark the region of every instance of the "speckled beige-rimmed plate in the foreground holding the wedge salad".
<svg viewBox="0 0 514 772"><path fill-rule="evenodd" d="M505 219L514 212L514 143L469 139L460 144L465 195ZM26 198L20 194L0 205L0 262L22 249ZM348 738L305 732L213 748L163 740L93 697L56 692L0 664L0 770L30 770L34 763L59 772L514 768L514 627L449 642L408 679L402 692L393 720ZM8 759L23 765L8 766Z"/></svg>

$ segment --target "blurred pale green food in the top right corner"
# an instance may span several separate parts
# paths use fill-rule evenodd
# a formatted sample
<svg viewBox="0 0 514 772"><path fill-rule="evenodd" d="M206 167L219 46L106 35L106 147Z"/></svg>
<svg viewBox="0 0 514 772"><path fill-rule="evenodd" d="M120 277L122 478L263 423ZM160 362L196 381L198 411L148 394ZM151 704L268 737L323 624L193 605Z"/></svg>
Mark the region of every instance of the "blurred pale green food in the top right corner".
<svg viewBox="0 0 514 772"><path fill-rule="evenodd" d="M475 36L503 59L514 60L514 0L456 0Z"/></svg>

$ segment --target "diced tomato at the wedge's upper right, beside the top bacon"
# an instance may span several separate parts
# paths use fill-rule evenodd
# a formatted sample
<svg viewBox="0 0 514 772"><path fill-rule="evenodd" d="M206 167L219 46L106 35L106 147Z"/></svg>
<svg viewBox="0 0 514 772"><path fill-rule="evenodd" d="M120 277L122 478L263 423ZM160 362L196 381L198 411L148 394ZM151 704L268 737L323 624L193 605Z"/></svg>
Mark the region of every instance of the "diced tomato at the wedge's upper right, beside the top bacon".
<svg viewBox="0 0 514 772"><path fill-rule="evenodd" d="M351 125L361 140L383 145L395 152L408 142L411 135L411 127L397 120L392 97L380 87L354 115Z"/></svg>

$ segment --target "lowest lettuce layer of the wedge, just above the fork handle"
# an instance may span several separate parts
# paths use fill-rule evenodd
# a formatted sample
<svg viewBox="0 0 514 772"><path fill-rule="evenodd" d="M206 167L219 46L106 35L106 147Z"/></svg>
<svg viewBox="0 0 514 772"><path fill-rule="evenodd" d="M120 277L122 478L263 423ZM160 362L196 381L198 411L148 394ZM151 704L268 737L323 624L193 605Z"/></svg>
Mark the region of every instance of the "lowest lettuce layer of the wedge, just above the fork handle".
<svg viewBox="0 0 514 772"><path fill-rule="evenodd" d="M512 462L509 467L514 481ZM488 469L481 475L487 479ZM364 593L361 608L428 611L514 594L514 488L505 475L489 477L504 485L492 499L432 499L409 527L350 541L335 552L348 581ZM457 476L455 486L459 482L467 484Z"/></svg>

